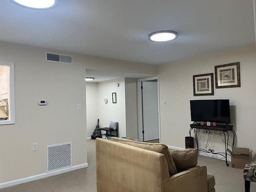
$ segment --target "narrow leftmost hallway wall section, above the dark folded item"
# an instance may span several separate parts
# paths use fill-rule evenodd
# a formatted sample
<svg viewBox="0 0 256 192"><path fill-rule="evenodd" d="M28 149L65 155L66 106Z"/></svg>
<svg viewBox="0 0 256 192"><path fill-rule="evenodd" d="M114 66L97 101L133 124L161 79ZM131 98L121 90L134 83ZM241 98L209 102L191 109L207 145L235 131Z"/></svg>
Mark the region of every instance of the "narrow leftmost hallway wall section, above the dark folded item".
<svg viewBox="0 0 256 192"><path fill-rule="evenodd" d="M98 120L98 83L86 82L86 127L89 138Z"/></svg>

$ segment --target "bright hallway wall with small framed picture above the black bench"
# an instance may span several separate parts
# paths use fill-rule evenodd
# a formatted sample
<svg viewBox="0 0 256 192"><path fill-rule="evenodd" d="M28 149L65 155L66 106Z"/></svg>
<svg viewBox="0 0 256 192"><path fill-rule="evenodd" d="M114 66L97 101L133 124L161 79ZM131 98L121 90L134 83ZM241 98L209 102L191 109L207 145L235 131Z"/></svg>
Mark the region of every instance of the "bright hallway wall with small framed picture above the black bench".
<svg viewBox="0 0 256 192"><path fill-rule="evenodd" d="M119 87L116 87L117 82L120 84ZM114 92L117 103L112 103ZM104 99L108 99L108 104L104 103ZM126 136L124 78L98 83L98 114L100 128L109 127L110 121L118 122L118 136Z"/></svg>

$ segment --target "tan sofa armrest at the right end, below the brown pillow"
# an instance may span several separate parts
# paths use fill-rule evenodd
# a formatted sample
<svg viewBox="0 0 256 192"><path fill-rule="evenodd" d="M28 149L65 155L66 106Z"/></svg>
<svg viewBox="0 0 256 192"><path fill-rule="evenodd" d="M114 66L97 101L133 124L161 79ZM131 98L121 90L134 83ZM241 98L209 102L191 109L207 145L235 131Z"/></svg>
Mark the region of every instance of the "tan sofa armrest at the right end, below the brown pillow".
<svg viewBox="0 0 256 192"><path fill-rule="evenodd" d="M196 166L171 176L162 183L163 192L207 192L206 166Z"/></svg>

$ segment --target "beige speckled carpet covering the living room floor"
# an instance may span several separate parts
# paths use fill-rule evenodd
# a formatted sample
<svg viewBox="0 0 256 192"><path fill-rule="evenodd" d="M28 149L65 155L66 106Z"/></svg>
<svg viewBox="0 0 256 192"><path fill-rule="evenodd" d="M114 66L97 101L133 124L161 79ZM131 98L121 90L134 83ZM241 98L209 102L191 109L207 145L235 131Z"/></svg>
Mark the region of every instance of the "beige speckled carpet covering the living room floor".
<svg viewBox="0 0 256 192"><path fill-rule="evenodd" d="M95 140L88 141L88 164L88 168L20 184L0 192L96 192ZM224 161L201 156L198 164L205 164L208 172L214 174L216 192L244 192L242 169L227 167ZM251 184L251 192L254 191L256 183Z"/></svg>

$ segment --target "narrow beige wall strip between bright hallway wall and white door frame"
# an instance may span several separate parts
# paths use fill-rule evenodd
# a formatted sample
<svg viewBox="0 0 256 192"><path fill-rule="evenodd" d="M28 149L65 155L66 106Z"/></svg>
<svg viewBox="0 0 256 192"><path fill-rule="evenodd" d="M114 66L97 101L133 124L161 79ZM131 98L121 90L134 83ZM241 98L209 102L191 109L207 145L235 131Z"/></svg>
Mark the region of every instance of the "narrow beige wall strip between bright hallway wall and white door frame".
<svg viewBox="0 0 256 192"><path fill-rule="evenodd" d="M138 139L137 79L125 78L126 136Z"/></svg>

